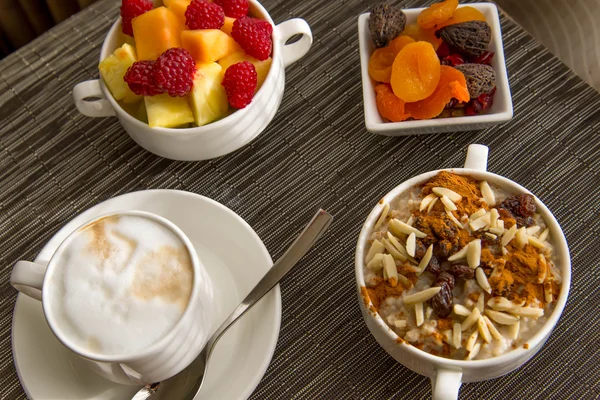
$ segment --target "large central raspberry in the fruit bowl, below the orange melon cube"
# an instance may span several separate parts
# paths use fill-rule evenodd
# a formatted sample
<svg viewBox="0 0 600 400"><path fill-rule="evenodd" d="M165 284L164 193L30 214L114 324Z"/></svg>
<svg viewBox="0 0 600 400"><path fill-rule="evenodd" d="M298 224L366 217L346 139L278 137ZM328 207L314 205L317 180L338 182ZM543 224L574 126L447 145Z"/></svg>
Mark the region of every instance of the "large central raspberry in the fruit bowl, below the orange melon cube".
<svg viewBox="0 0 600 400"><path fill-rule="evenodd" d="M169 96L181 97L192 90L195 73L196 63L192 55L185 49L174 47L156 60L154 80Z"/></svg>

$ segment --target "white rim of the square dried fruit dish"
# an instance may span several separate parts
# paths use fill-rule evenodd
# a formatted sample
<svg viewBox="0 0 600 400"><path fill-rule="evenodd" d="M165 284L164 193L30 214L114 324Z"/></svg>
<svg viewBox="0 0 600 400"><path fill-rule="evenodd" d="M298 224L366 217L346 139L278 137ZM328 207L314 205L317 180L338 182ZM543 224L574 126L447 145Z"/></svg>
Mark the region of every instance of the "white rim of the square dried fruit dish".
<svg viewBox="0 0 600 400"><path fill-rule="evenodd" d="M496 43L496 48L492 49L495 51L495 57L498 60L498 64L501 67L500 71L496 71L496 86L502 87L503 98L508 104L508 109L488 114L470 115L464 117L447 117L447 118L433 118L426 120L413 120L413 121L402 121L402 122L375 122L367 117L367 108L375 107L374 101L369 101L367 98L374 98L375 87L373 80L369 76L369 60L363 57L367 53L367 43L364 43L363 35L360 34L361 29L366 29L368 32L368 18L370 13L361 14L358 17L359 26L359 54L361 62L361 77L363 87L363 105L365 115L365 125L367 130L373 133L385 134L389 131L402 131L416 128L435 128L440 125L443 126L455 126L455 125L478 125L478 124L490 124L490 123L501 123L510 120L513 117L513 104L510 93L510 85L508 83L508 72L506 69L506 59L504 56L504 42L502 41L502 26L500 25L500 17L498 15L498 8L493 3L465 3L459 4L459 7L473 7L478 10L489 10L494 16L491 21L486 21L491 25L492 34ZM404 12L417 13L421 12L425 8L409 8L403 9Z"/></svg>

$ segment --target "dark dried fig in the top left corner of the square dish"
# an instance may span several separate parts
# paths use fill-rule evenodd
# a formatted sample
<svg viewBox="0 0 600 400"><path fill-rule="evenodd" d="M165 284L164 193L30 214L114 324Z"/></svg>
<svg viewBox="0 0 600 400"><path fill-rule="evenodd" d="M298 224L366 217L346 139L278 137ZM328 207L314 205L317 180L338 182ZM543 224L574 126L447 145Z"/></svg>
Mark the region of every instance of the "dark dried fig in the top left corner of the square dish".
<svg viewBox="0 0 600 400"><path fill-rule="evenodd" d="M387 3L379 3L371 9L369 30L375 47L387 46L404 30L406 15L398 7Z"/></svg>

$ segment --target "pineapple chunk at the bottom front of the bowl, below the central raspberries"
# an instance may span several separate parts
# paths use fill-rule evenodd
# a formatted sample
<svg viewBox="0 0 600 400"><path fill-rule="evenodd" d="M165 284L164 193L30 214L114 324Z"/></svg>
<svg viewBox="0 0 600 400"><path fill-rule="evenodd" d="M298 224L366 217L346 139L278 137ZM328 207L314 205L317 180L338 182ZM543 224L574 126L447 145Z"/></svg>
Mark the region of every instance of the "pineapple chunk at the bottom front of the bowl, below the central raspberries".
<svg viewBox="0 0 600 400"><path fill-rule="evenodd" d="M168 94L144 96L150 128L174 128L194 122L194 115L185 97Z"/></svg>

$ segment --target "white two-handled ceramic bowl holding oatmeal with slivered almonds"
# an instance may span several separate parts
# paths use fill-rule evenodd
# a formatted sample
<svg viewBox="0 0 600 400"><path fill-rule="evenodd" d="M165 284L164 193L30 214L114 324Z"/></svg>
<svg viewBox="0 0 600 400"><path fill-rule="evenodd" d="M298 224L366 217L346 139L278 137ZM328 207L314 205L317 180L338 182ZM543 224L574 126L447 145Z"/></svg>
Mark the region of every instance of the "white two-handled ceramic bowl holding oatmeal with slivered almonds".
<svg viewBox="0 0 600 400"><path fill-rule="evenodd" d="M477 180L486 180L510 192L530 193L523 186L510 179L487 172L487 158L488 148L486 146L472 144L468 148L464 168L453 168L449 171L459 175L470 175ZM537 212L541 214L546 225L550 228L554 254L556 256L556 266L561 271L562 283L554 310L548 317L547 322L527 341L528 348L519 347L500 356L488 359L463 361L434 356L406 342L398 343L396 333L387 326L379 313L369 310L369 306L371 306L370 301L369 304L365 304L360 294L361 287L366 286L363 268L369 232L379 218L385 203L391 202L411 187L427 181L438 172L440 171L431 171L415 176L403 182L383 197L382 201L371 211L360 231L354 263L360 310L371 334L381 347L396 361L412 371L431 379L432 393L435 400L454 400L458 398L462 382L483 381L507 374L523 365L540 350L552 333L567 302L569 287L571 285L571 259L567 240L556 218L536 198Z"/></svg>

